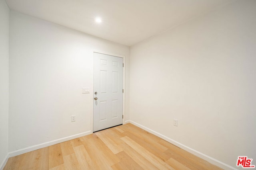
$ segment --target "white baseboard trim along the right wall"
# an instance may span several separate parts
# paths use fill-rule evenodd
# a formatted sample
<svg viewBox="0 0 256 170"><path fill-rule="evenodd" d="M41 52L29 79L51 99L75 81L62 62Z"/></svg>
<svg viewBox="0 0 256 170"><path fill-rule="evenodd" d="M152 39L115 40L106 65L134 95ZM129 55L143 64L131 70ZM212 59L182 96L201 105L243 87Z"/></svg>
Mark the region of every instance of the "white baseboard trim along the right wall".
<svg viewBox="0 0 256 170"><path fill-rule="evenodd" d="M158 137L160 137L160 138L162 138L162 139L172 143L173 145L176 145L177 147L180 147L181 149L184 149L184 150L186 150L186 151L188 151L188 152L190 152L190 153L192 153L192 154L194 154L194 155L196 155L196 156L198 156L198 157L200 157L200 158L210 162L211 164L219 166L220 168L223 168L225 170L226 169L238 170L238 169L236 169L236 168L234 168L234 167L232 167L232 166L230 166L228 164L225 164L224 162L221 162L221 161L219 161L219 160L217 160L215 158L212 158L212 157L210 157L210 156L208 156L206 154L203 154L203 153L201 153L201 152L199 152L197 150L194 150L194 149L192 149L192 148L190 148L190 147L188 147L186 145L183 145L183 144L181 144L181 143L179 143L179 142L177 142L177 141L175 141L175 140L173 140L173 139L171 139L169 137L166 137L165 135L162 135L162 134L160 134L160 133L158 133L156 131L153 131L152 129L149 129L149 128L143 126L143 125L140 125L139 123L136 123L136 122L131 121L131 120L126 121L126 122L127 123L132 123L133 125L136 125L136 126L140 127L141 129L144 129L145 131L148 131L148 132L150 132L150 133L152 133L152 134L154 134L154 135L156 135L156 136L158 136Z"/></svg>

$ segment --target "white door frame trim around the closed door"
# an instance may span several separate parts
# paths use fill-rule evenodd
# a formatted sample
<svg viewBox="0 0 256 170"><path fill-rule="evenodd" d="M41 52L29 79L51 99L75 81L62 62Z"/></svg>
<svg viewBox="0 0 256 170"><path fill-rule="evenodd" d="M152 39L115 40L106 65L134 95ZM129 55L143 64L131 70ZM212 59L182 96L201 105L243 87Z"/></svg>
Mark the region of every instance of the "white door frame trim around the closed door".
<svg viewBox="0 0 256 170"><path fill-rule="evenodd" d="M117 54L113 54L113 53L108 53L108 52L104 52L104 51L98 51L98 50L92 50L92 54L91 54L91 68L90 68L90 72L91 72L91 87L90 87L90 111L91 111L91 133L93 133L93 98L94 98L94 89L93 89L93 70L94 70L94 53L100 53L100 54L105 54L105 55L111 55L114 57L121 57L123 58L123 63L124 63L124 67L123 67L123 89L124 89L124 93L123 93L123 115L124 115L124 119L123 119L123 124L125 122L125 56L124 55L117 55Z"/></svg>

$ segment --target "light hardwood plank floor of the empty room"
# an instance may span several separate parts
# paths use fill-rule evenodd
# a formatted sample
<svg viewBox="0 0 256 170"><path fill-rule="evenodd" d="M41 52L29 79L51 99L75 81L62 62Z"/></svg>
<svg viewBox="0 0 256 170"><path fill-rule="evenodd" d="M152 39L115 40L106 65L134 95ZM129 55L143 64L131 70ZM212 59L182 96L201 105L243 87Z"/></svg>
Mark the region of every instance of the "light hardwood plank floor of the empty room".
<svg viewBox="0 0 256 170"><path fill-rule="evenodd" d="M220 170L130 123L8 159L4 170Z"/></svg>

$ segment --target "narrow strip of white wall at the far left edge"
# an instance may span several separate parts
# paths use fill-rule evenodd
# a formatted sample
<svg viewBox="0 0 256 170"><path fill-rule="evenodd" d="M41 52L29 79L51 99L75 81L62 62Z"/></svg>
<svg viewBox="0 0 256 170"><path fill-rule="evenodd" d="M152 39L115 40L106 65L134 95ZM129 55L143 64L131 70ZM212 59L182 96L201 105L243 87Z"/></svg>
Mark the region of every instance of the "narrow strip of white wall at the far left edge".
<svg viewBox="0 0 256 170"><path fill-rule="evenodd" d="M0 168L8 152L9 18L10 10L0 0Z"/></svg>

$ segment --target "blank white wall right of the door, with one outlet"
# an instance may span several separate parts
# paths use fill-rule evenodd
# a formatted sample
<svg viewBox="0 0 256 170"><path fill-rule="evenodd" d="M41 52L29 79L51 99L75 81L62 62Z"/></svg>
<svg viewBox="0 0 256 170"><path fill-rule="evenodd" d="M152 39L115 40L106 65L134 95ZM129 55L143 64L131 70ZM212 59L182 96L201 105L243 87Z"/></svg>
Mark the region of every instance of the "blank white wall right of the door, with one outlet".
<svg viewBox="0 0 256 170"><path fill-rule="evenodd" d="M256 164L255 9L237 1L132 46L130 120L232 167Z"/></svg>

